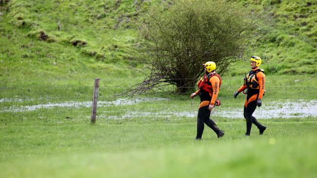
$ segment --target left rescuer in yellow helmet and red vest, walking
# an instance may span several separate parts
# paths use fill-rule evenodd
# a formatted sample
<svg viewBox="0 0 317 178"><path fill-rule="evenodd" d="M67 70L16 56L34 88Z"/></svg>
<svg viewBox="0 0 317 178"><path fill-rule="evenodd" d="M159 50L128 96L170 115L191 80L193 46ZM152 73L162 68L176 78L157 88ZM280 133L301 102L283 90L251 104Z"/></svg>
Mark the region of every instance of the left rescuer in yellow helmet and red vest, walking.
<svg viewBox="0 0 317 178"><path fill-rule="evenodd" d="M217 100L218 92L221 85L221 78L216 73L215 62L206 62L204 66L204 76L198 82L198 90L190 95L191 98L199 95L200 105L197 117L197 135L196 140L200 140L204 131L204 124L209 126L217 134L217 137L222 137L224 132L218 128L216 123L210 119L211 110L215 106L220 105Z"/></svg>

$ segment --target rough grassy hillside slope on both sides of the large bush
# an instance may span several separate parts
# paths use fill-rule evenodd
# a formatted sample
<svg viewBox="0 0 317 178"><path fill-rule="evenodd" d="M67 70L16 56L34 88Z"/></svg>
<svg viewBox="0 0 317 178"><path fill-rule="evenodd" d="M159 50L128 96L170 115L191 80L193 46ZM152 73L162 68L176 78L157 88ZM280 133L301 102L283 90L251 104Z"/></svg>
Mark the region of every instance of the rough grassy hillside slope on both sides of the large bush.
<svg viewBox="0 0 317 178"><path fill-rule="evenodd" d="M239 3L263 9L271 18L262 20L246 60L251 54L261 56L267 73L317 72L317 2ZM138 66L133 59L139 21L152 7L171 4L168 0L1 0L0 78L90 76L98 72L91 71L92 66L121 66L114 70ZM245 64L233 64L231 75L248 70Z"/></svg>

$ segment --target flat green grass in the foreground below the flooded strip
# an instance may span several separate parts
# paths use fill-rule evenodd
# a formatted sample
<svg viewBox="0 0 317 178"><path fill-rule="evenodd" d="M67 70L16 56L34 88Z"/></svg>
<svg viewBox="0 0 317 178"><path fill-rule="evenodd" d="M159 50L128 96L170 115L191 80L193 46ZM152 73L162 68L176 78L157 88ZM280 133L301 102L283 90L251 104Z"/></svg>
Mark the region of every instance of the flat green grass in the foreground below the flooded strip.
<svg viewBox="0 0 317 178"><path fill-rule="evenodd" d="M192 119L174 122L1 126L1 177L315 177L316 119L261 120L263 136L245 122L218 121L194 141ZM301 170L301 171L298 171Z"/></svg>

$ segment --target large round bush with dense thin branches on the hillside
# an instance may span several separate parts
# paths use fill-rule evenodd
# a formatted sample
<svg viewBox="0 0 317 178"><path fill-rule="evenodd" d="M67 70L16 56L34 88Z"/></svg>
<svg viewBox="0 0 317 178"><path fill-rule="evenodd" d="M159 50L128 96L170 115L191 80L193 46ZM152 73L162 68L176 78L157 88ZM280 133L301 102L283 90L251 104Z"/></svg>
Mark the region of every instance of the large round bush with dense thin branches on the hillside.
<svg viewBox="0 0 317 178"><path fill-rule="evenodd" d="M139 92L163 88L162 83L186 92L196 85L192 79L200 77L206 61L215 62L223 74L246 51L260 20L259 12L251 15L241 8L223 0L181 0L165 11L150 11L140 30L140 63L151 72Z"/></svg>

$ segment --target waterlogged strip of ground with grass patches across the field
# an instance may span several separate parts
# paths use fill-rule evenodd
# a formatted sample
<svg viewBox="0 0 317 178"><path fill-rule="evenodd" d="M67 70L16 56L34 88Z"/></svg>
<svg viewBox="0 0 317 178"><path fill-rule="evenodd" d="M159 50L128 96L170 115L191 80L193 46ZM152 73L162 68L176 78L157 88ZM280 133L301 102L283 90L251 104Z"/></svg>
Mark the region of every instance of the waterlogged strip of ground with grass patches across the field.
<svg viewBox="0 0 317 178"><path fill-rule="evenodd" d="M117 99L115 101L99 101L98 102L98 118L99 119L129 119L129 118L142 118L142 117L164 117L164 118L178 118L178 117L197 117L198 108L188 107L182 109L157 109L155 104L161 101L167 102L166 98L142 98L142 99ZM10 102L23 102L21 99L2 98L0 103L9 104ZM131 106L145 103L147 108L132 109ZM171 105L171 104L170 104ZM59 108L84 108L91 107L92 102L62 102L62 103L47 103L37 104L30 106L14 106L5 104L0 107L0 112L28 112L38 109L59 109ZM112 107L120 106L120 110L113 112ZM173 106L173 105L172 105ZM152 107L152 108L151 108ZM271 118L304 118L304 117L317 117L317 100L311 101L286 101L286 102L271 102L264 103L262 107L258 107L253 114L258 119L271 119ZM225 117L225 118L243 118L243 104L240 108L225 108L216 107L212 111L212 117Z"/></svg>

